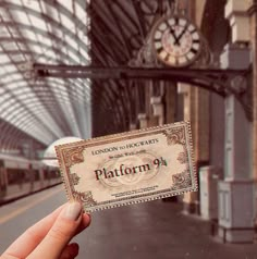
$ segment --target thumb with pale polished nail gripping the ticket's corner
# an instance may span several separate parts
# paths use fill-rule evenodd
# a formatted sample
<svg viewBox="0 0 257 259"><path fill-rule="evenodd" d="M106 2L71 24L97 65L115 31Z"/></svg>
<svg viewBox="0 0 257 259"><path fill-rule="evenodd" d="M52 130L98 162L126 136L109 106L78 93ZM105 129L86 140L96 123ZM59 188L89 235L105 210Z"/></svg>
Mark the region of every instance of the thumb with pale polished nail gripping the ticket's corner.
<svg viewBox="0 0 257 259"><path fill-rule="evenodd" d="M59 258L75 235L81 220L82 205L77 201L69 202L60 212L46 237L27 258Z"/></svg>

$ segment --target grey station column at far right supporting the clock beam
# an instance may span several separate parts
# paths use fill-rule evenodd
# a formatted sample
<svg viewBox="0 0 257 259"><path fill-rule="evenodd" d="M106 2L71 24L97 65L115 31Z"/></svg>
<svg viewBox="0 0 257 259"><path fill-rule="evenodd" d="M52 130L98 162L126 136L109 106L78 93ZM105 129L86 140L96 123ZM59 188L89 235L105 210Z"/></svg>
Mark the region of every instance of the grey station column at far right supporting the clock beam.
<svg viewBox="0 0 257 259"><path fill-rule="evenodd" d="M243 70L249 66L247 9L247 1L227 2L225 17L230 21L233 44L224 48L220 59L222 69ZM231 95L225 99L224 178L218 184L218 235L224 242L254 240L252 143L252 123L236 97Z"/></svg>

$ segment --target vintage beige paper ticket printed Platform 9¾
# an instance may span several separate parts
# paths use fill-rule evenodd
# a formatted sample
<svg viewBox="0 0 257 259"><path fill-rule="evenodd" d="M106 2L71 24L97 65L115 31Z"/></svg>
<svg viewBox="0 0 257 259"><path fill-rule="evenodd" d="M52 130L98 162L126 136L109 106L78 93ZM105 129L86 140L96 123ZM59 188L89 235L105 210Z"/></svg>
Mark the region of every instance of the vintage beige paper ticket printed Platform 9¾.
<svg viewBox="0 0 257 259"><path fill-rule="evenodd" d="M197 190L188 122L56 146L69 199L87 212Z"/></svg>

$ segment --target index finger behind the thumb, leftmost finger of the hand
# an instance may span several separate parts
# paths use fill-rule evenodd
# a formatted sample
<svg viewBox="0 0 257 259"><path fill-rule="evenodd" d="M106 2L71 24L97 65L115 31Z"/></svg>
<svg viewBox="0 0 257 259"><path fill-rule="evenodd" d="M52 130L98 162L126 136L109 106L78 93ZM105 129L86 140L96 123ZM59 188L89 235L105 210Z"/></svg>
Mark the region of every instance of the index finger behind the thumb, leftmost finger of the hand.
<svg viewBox="0 0 257 259"><path fill-rule="evenodd" d="M27 257L51 229L62 208L63 206L59 207L51 214L30 226L3 252L2 256L10 255L17 258Z"/></svg>

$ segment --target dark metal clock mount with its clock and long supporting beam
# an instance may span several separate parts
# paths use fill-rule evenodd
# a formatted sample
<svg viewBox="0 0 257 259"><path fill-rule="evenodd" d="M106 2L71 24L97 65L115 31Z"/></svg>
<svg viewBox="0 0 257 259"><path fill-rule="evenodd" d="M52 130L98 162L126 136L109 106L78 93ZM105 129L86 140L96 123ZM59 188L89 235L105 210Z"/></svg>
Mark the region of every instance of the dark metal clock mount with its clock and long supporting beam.
<svg viewBox="0 0 257 259"><path fill-rule="evenodd" d="M151 2L161 3L160 0ZM164 0L163 0L164 1ZM97 78L97 79L159 79L187 83L225 98L234 95L246 118L253 120L250 87L238 84L252 77L250 70L231 70L219 66L219 53L210 51L207 39L186 17L182 0L167 0L171 8L147 13L160 17L144 39L144 44L127 62L127 66L33 64L35 78ZM163 4L160 4L163 5ZM240 78L240 79L238 79ZM130 85L130 84L128 84ZM238 86L240 85L240 86Z"/></svg>

